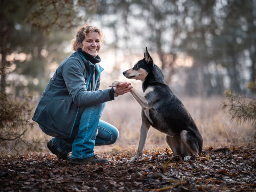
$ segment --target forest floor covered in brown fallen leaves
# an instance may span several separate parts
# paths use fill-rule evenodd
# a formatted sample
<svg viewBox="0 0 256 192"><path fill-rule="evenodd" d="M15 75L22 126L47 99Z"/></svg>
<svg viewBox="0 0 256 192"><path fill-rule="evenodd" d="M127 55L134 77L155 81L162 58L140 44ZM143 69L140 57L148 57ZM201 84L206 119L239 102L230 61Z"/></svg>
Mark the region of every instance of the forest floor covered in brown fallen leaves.
<svg viewBox="0 0 256 192"><path fill-rule="evenodd" d="M50 154L2 156L1 191L255 191L256 145L214 152L184 162L168 149L102 154L108 164L69 164Z"/></svg>

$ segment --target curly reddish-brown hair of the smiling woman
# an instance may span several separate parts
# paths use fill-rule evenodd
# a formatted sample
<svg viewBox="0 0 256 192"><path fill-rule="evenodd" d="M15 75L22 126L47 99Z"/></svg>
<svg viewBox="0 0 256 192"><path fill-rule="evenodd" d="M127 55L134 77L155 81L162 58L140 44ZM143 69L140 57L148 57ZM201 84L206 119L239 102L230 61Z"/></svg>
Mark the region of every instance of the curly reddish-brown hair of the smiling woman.
<svg viewBox="0 0 256 192"><path fill-rule="evenodd" d="M104 36L103 36L102 31L99 28L93 27L91 25L83 25L83 26L77 28L76 36L74 39L72 39L72 50L76 51L77 48L79 47L79 45L84 40L84 38L86 37L86 35L88 33L94 33L94 32L99 33L100 42L103 44Z"/></svg>

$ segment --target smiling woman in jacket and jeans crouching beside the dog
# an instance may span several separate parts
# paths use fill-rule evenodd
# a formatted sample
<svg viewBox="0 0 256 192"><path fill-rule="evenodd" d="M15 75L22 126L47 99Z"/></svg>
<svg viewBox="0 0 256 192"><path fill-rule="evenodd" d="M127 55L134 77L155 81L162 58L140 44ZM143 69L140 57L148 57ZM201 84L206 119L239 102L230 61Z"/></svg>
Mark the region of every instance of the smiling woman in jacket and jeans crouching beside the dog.
<svg viewBox="0 0 256 192"><path fill-rule="evenodd" d="M82 26L73 39L73 50L63 60L46 86L33 120L54 138L47 142L58 158L71 163L105 163L95 156L96 145L113 144L119 137L116 127L100 120L105 102L132 89L122 83L115 89L99 90L103 68L99 52L103 35L99 28ZM97 131L98 130L98 131ZM96 136L97 135L97 136Z"/></svg>

